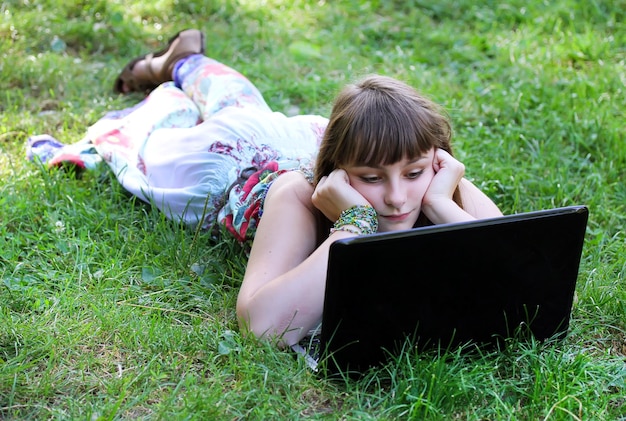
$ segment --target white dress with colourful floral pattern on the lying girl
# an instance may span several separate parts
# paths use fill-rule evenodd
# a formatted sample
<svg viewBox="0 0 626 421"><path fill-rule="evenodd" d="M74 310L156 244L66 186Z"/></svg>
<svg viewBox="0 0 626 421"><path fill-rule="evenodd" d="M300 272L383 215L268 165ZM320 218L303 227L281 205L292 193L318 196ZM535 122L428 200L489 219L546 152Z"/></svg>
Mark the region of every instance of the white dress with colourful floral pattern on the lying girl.
<svg viewBox="0 0 626 421"><path fill-rule="evenodd" d="M272 112L248 79L202 55L179 62L175 81L107 114L68 148L95 150L126 190L169 218L204 228L219 223L249 240L269 185L285 171L311 167L328 121ZM50 154L51 143L39 139L29 145L58 164L67 148Z"/></svg>

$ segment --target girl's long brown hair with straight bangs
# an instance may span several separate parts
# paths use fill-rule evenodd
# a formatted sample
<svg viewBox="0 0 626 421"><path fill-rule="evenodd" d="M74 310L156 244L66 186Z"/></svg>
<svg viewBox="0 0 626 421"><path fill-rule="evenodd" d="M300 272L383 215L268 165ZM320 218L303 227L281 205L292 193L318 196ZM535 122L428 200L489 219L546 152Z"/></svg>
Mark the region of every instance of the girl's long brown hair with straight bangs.
<svg viewBox="0 0 626 421"><path fill-rule="evenodd" d="M452 128L441 107L397 79L370 75L337 96L314 181L317 184L343 166L393 164L432 148L452 154L451 138ZM454 200L461 205L458 188Z"/></svg>

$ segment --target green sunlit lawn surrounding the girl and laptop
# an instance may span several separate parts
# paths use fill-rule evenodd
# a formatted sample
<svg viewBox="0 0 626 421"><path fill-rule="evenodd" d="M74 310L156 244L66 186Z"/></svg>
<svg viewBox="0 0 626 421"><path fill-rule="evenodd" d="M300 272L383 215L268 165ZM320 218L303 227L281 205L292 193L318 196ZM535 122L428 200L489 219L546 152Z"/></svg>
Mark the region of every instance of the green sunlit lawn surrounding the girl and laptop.
<svg viewBox="0 0 626 421"><path fill-rule="evenodd" d="M129 3L129 4L127 4ZM3 1L0 418L626 419L626 2ZM332 381L243 338L246 255L166 220L106 169L28 162L81 138L132 57L186 27L286 113L363 74L449 111L467 176L505 213L586 204L570 335L502 353L402 354Z"/></svg>

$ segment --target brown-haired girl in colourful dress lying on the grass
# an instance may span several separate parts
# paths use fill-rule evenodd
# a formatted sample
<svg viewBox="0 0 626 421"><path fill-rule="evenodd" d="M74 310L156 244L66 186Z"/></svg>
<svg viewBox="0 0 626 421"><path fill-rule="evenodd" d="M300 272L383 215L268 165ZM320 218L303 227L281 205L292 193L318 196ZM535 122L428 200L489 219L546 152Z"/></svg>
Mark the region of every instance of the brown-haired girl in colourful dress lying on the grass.
<svg viewBox="0 0 626 421"><path fill-rule="evenodd" d="M406 84L369 76L328 120L286 117L203 53L203 34L186 30L131 61L115 91L150 94L86 139L169 217L252 240L237 300L245 331L293 345L318 327L340 238L501 215L463 178L447 118Z"/></svg>

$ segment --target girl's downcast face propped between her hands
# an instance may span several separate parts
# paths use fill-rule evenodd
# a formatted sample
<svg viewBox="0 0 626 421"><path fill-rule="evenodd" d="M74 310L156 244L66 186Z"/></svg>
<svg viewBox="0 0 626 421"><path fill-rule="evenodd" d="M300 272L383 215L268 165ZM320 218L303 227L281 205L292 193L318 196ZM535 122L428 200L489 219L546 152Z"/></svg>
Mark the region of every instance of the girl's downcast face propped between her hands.
<svg viewBox="0 0 626 421"><path fill-rule="evenodd" d="M376 209L378 231L413 227L422 209L422 199L435 176L432 148L415 159L380 166L349 166L350 185Z"/></svg>

